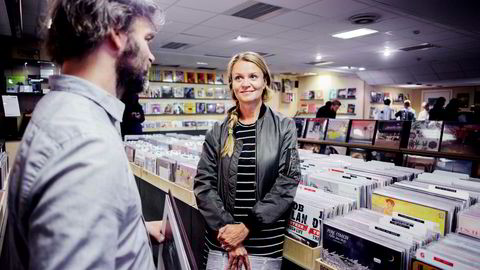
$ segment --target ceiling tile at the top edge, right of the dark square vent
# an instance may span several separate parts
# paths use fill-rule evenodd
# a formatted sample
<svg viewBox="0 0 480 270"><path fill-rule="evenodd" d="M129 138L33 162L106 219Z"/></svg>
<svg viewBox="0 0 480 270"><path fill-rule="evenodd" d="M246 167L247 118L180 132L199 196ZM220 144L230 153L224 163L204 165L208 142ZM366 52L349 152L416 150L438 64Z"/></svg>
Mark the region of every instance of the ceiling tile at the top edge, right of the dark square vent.
<svg viewBox="0 0 480 270"><path fill-rule="evenodd" d="M323 0L305 6L301 8L300 11L321 17L334 18L343 14L348 14L355 10L365 9L368 7L368 5L353 0Z"/></svg>

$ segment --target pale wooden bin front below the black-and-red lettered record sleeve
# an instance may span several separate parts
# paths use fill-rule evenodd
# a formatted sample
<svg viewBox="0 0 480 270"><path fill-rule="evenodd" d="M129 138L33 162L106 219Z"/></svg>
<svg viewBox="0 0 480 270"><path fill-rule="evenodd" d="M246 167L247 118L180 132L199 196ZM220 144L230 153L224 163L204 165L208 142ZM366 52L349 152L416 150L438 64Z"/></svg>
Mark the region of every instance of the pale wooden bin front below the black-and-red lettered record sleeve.
<svg viewBox="0 0 480 270"><path fill-rule="evenodd" d="M315 260L320 257L322 247L312 248L285 236L283 257L305 269L315 269Z"/></svg>

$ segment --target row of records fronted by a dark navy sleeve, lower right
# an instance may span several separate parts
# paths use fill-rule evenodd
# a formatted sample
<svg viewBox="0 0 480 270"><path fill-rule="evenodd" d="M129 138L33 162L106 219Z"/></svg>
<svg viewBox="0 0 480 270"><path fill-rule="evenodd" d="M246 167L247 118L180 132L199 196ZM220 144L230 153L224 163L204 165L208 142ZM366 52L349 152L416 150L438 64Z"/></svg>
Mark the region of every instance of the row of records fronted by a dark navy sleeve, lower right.
<svg viewBox="0 0 480 270"><path fill-rule="evenodd" d="M438 237L416 220L360 209L324 222L322 260L338 270L407 270L414 252Z"/></svg>

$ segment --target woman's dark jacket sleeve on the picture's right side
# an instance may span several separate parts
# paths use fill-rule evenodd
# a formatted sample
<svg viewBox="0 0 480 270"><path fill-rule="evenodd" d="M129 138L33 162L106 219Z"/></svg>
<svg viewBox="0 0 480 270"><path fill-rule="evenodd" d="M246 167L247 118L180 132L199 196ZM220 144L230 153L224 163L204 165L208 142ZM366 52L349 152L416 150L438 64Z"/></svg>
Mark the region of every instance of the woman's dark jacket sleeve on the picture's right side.
<svg viewBox="0 0 480 270"><path fill-rule="evenodd" d="M301 178L300 160L297 150L297 131L292 119L288 119L283 137L279 159L278 177L275 183L262 200L252 208L245 226L252 229L261 229L276 222L290 206L295 197L297 186Z"/></svg>

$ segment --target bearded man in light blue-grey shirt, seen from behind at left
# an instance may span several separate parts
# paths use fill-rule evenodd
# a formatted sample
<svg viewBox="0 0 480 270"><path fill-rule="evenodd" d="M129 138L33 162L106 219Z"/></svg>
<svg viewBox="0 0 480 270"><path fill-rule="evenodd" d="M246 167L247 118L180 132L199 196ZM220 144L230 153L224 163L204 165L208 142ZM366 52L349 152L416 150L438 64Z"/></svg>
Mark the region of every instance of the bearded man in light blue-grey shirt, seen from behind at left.
<svg viewBox="0 0 480 270"><path fill-rule="evenodd" d="M50 1L46 48L62 69L37 104L9 189L7 269L155 269L120 137L124 104L154 60L148 0ZM3 269L3 268L2 268Z"/></svg>

